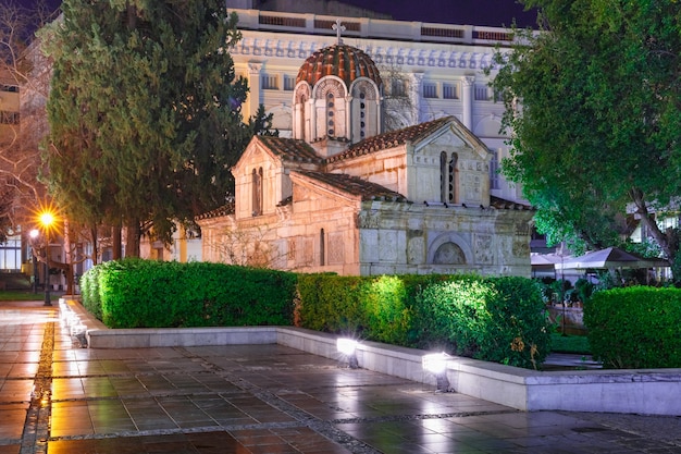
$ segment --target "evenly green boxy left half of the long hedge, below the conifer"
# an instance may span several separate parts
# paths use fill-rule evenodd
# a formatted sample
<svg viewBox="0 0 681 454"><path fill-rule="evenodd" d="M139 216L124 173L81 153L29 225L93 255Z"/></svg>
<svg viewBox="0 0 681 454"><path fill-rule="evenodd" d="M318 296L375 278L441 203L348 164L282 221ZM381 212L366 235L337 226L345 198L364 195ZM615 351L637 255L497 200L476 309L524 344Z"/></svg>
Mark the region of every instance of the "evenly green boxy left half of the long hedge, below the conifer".
<svg viewBox="0 0 681 454"><path fill-rule="evenodd" d="M296 275L282 271L125 259L92 268L84 284L84 306L111 328L293 323Z"/></svg>

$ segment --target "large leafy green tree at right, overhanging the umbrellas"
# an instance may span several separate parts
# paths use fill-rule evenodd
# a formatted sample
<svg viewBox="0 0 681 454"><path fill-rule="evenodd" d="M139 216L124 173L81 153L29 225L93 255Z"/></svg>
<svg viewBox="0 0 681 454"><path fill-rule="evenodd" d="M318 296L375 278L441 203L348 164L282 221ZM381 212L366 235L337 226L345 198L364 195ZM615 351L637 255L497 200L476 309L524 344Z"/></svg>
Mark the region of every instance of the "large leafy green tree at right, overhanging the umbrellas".
<svg viewBox="0 0 681 454"><path fill-rule="evenodd" d="M666 258L655 221L680 194L681 9L674 0L527 0L540 33L516 30L493 85L512 131L503 172L560 241L618 242L629 207Z"/></svg>

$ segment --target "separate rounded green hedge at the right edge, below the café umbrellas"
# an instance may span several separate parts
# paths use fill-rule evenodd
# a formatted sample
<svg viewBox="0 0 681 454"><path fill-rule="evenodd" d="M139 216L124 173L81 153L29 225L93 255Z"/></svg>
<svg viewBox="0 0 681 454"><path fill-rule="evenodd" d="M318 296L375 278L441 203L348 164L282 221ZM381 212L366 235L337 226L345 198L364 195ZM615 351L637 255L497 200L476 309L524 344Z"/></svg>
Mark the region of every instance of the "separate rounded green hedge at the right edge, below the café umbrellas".
<svg viewBox="0 0 681 454"><path fill-rule="evenodd" d="M594 358L609 368L681 367L681 290L632 286L584 304Z"/></svg>

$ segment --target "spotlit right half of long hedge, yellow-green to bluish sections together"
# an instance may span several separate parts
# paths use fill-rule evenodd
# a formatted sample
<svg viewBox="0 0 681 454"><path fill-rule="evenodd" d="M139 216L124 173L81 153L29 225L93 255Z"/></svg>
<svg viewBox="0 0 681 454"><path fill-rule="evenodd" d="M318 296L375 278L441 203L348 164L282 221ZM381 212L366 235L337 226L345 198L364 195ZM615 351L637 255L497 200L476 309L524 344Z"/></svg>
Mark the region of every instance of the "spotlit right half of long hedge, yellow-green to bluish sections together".
<svg viewBox="0 0 681 454"><path fill-rule="evenodd" d="M550 349L540 289L524 278L298 277L305 328L519 367Z"/></svg>

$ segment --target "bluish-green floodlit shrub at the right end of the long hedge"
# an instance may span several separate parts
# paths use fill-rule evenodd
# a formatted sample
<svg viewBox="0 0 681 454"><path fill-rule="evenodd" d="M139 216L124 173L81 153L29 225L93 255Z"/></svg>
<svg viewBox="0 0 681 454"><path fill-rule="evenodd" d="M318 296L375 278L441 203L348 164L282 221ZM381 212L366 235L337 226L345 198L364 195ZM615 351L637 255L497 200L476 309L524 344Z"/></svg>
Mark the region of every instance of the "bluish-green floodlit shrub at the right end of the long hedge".
<svg viewBox="0 0 681 454"><path fill-rule="evenodd" d="M540 287L523 278L435 283L418 297L424 348L536 368L550 349ZM417 318L417 317L414 317Z"/></svg>

